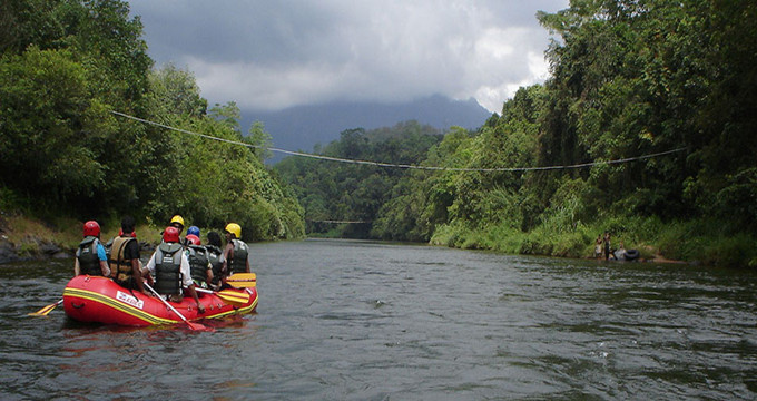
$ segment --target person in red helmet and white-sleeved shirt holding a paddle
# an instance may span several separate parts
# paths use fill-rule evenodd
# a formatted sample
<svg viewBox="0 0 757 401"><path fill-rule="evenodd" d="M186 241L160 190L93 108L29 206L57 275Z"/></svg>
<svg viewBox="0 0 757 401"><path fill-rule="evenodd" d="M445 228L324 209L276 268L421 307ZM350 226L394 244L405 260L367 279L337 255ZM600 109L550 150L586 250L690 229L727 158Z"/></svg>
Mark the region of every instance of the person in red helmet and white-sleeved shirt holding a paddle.
<svg viewBox="0 0 757 401"><path fill-rule="evenodd" d="M163 232L163 242L155 250L150 261L145 266L146 274L155 277L155 291L167 295L170 301L181 302L184 293L188 293L197 303L199 313L205 313L205 306L199 303L195 283L191 281L189 260L179 244L179 231L168 226Z"/></svg>

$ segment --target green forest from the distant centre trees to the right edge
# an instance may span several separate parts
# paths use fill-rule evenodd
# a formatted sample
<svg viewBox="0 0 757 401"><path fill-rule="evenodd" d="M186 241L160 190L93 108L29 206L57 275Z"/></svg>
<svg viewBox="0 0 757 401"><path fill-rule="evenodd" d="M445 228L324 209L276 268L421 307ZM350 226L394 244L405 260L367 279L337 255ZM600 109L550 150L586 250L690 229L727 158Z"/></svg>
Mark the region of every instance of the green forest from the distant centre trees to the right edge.
<svg viewBox="0 0 757 401"><path fill-rule="evenodd" d="M610 232L646 256L757 266L757 3L573 0L537 17L551 78L403 160L448 169L277 165L308 229L571 257ZM347 130L316 153L394 163L385 140Z"/></svg>

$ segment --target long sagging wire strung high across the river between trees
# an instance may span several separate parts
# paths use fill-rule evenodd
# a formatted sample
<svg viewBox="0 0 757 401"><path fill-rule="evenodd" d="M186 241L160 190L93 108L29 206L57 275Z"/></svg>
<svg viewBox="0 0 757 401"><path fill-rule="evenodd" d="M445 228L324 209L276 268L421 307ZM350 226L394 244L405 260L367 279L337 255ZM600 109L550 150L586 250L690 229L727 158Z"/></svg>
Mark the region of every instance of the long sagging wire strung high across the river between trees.
<svg viewBox="0 0 757 401"><path fill-rule="evenodd" d="M591 162L591 163L581 163L581 164L574 164L574 165L567 165L567 166L492 167L492 168L419 166L419 165L381 163L381 162L371 162L371 160L346 159L346 158L340 158L340 157L331 157L331 156L307 154L307 153L302 153L302 151L292 151L292 150L286 150L286 149L278 149L278 148L275 148L275 147L265 147L265 146L259 146L259 145L246 144L246 143L242 143L242 141L238 141L238 140L224 139L224 138L218 138L218 137L214 137L214 136L210 136L210 135L194 133L194 131L190 131L190 130L171 127L171 126L168 126L168 125L165 125L165 124L146 120L144 118L129 116L127 114L115 111L115 110L110 110L110 113L112 113L117 116L121 116L121 117L125 117L125 118L132 119L135 121L153 125L153 126L160 127L160 128L166 128L166 129L169 129L169 130L175 130L177 133L195 135L195 136L198 136L198 137L201 137L201 138L217 140L217 141L222 141L222 143L226 143L226 144L232 144L232 145L240 145L240 146L246 146L246 147L256 148L256 149L266 149L266 150L277 151L277 153L285 154L285 155L308 157L308 158L321 159L321 160L331 160L331 162L348 163L348 164L357 164L357 165L368 165L368 166L377 166L377 167L404 168L404 169L442 170L442 172L482 172L482 173L491 173L491 172L539 172L539 170L556 170L556 169L573 169L573 168L584 168L584 167L592 167L592 166L600 166L600 165L613 165L613 164L622 164L622 163L629 163L629 162L643 160L643 159L648 159L648 158L670 155L670 154L674 154L674 153L686 150L686 147L680 147L680 148L677 148L677 149L660 151L660 153L650 154L650 155L626 157L626 158L612 159L612 160L599 160L599 162Z"/></svg>

